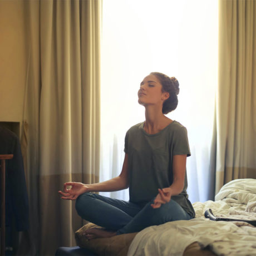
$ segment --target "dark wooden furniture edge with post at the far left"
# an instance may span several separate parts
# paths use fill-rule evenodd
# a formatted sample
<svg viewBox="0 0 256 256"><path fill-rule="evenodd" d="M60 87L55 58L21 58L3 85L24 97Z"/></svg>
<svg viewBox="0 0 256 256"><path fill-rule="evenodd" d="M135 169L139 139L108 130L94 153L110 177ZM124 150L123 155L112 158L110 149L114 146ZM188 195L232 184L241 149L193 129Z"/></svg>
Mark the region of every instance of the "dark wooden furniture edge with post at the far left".
<svg viewBox="0 0 256 256"><path fill-rule="evenodd" d="M1 160L1 255L6 249L6 160L13 155L0 155Z"/></svg>

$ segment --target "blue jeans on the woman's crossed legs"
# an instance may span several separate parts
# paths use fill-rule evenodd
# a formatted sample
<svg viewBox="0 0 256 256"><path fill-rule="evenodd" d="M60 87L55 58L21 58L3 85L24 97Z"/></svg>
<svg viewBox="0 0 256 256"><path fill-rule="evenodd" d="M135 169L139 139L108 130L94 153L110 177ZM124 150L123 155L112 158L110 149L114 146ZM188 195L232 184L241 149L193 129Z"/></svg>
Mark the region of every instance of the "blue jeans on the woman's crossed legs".
<svg viewBox="0 0 256 256"><path fill-rule="evenodd" d="M85 220L109 230L117 235L139 232L152 226L174 220L189 220L192 217L174 200L154 209L149 203L107 198L106 196L84 193L76 199L77 213Z"/></svg>

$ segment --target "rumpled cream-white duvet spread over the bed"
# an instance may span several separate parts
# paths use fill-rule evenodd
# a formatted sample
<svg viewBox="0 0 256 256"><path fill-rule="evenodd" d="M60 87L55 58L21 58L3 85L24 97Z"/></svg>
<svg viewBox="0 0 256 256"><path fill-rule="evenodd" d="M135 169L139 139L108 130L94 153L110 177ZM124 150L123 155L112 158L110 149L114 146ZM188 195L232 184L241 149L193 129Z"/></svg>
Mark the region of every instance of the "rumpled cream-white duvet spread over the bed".
<svg viewBox="0 0 256 256"><path fill-rule="evenodd" d="M215 201L193 204L196 218L152 226L139 232L128 255L183 255L198 242L217 255L256 255L256 227L241 221L205 219L210 208L215 216L256 220L256 180L238 179L225 184Z"/></svg>

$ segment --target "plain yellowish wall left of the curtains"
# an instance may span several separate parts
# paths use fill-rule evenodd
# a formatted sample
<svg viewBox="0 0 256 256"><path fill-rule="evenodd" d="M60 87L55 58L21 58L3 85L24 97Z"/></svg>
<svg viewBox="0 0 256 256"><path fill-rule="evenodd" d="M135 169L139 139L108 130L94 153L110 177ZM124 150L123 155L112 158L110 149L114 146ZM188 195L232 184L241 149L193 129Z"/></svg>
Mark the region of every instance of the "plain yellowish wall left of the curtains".
<svg viewBox="0 0 256 256"><path fill-rule="evenodd" d="M0 121L22 121L27 67L23 4L0 0Z"/></svg>

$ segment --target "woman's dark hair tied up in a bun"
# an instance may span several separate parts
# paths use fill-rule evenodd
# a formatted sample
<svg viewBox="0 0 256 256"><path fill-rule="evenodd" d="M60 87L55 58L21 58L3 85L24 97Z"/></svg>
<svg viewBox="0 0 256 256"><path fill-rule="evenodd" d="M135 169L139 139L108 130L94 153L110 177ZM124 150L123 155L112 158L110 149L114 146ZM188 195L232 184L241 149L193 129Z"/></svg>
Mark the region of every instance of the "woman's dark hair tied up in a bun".
<svg viewBox="0 0 256 256"><path fill-rule="evenodd" d="M151 72L150 75L154 75L159 79L163 92L169 92L169 98L163 104L163 114L168 114L175 110L178 105L177 95L180 91L178 80L175 77L169 77L160 72Z"/></svg>

